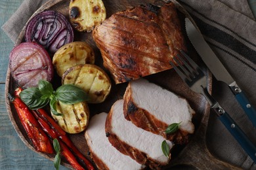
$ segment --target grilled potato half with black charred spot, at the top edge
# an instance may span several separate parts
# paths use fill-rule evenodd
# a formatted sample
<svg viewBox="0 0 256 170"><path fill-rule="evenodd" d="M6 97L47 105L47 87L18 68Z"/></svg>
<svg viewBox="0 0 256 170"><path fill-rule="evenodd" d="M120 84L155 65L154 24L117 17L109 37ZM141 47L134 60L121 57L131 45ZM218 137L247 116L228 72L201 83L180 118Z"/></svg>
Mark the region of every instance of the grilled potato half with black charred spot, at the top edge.
<svg viewBox="0 0 256 170"><path fill-rule="evenodd" d="M70 22L77 31L91 31L106 19L102 0L71 0Z"/></svg>

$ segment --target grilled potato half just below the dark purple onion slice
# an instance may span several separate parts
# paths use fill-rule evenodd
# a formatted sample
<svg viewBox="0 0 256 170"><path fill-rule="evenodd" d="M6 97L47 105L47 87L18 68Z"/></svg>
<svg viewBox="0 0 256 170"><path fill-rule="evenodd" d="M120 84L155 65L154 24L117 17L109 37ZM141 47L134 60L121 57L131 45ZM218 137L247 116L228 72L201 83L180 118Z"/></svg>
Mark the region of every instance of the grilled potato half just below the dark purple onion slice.
<svg viewBox="0 0 256 170"><path fill-rule="evenodd" d="M70 42L62 46L53 56L53 66L59 76L79 64L95 63L95 52L86 42Z"/></svg>

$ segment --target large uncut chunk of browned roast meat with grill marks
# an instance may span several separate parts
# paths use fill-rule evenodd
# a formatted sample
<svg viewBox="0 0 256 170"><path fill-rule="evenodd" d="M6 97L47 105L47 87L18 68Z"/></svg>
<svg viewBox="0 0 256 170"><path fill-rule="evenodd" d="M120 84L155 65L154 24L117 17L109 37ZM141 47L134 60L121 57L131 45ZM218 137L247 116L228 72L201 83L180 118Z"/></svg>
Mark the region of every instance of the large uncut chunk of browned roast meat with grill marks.
<svg viewBox="0 0 256 170"><path fill-rule="evenodd" d="M169 60L186 50L173 3L117 12L95 27L93 39L116 84L171 69Z"/></svg>

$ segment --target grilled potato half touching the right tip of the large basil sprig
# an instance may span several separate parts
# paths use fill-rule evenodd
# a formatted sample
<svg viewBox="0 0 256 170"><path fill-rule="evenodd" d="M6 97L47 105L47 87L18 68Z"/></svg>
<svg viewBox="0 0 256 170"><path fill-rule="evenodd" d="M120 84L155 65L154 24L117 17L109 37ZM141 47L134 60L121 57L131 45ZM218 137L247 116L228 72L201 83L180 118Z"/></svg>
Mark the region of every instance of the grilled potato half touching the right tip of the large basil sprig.
<svg viewBox="0 0 256 170"><path fill-rule="evenodd" d="M111 89L108 75L92 64L71 67L62 76L62 84L75 84L89 95L88 103L102 103Z"/></svg>

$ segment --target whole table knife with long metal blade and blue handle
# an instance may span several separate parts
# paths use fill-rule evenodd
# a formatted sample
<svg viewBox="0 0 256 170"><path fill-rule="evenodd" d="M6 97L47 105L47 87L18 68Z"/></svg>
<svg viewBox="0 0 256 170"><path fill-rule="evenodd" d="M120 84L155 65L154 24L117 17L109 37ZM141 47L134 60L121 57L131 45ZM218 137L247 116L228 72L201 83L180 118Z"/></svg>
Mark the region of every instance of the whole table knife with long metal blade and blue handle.
<svg viewBox="0 0 256 170"><path fill-rule="evenodd" d="M202 33L196 29L189 18L185 18L185 25L188 39L190 39L190 42L194 48L196 48L196 51L203 59L203 62L207 65L217 80L225 82L229 86L230 90L232 90L234 96L236 97L236 100L241 105L242 109L244 109L245 114L247 114L253 126L256 127L256 110L253 105L249 103L249 100L244 95L244 92L242 92L241 88L238 86L238 84L236 84L236 81L228 73L223 63L221 63L213 50L211 50L211 47L203 38Z"/></svg>

